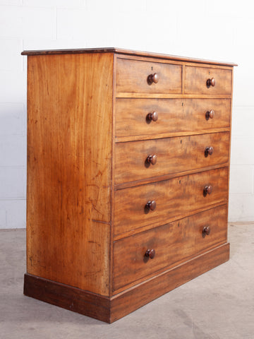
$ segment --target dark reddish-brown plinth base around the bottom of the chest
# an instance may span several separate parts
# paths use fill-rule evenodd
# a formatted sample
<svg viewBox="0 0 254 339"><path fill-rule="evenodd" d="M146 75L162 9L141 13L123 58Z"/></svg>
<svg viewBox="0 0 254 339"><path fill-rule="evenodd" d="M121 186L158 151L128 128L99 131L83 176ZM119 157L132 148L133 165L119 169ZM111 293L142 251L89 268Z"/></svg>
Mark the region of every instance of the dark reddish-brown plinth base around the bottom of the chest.
<svg viewBox="0 0 254 339"><path fill-rule="evenodd" d="M224 244L113 297L25 273L24 295L112 323L228 260L229 244Z"/></svg>

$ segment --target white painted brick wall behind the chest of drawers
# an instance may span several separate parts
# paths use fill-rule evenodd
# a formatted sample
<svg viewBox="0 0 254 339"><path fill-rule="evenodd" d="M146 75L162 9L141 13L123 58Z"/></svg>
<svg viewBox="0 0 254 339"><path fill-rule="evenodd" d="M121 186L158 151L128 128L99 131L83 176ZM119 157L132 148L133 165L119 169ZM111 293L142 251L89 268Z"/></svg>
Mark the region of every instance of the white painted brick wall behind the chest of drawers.
<svg viewBox="0 0 254 339"><path fill-rule="evenodd" d="M122 47L233 61L229 220L254 220L250 0L0 0L0 228L25 227L23 49Z"/></svg>

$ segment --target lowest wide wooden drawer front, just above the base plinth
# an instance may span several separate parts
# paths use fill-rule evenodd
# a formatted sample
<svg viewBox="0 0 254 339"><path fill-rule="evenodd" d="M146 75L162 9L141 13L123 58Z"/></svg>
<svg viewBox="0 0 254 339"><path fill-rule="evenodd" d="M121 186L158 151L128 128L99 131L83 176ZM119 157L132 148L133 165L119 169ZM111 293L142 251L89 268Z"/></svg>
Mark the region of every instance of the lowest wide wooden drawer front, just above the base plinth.
<svg viewBox="0 0 254 339"><path fill-rule="evenodd" d="M114 290L226 242L226 213L212 208L114 242Z"/></svg>

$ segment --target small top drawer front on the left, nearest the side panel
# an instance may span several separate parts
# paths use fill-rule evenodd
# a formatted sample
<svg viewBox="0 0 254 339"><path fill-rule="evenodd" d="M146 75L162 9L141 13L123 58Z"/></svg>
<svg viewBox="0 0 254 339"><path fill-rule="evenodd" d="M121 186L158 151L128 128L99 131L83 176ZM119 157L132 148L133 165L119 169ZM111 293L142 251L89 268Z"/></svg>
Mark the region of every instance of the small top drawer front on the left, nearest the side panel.
<svg viewBox="0 0 254 339"><path fill-rule="evenodd" d="M157 83L149 76L157 74ZM182 66L117 59L116 96L120 93L181 93Z"/></svg>

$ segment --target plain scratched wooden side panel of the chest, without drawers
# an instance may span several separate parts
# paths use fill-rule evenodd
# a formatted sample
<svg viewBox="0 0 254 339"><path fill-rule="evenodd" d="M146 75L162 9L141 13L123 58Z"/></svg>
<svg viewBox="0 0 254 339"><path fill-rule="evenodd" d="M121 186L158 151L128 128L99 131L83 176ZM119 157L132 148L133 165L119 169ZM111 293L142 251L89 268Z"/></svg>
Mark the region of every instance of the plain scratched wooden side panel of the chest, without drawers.
<svg viewBox="0 0 254 339"><path fill-rule="evenodd" d="M28 273L109 294L113 54L28 57Z"/></svg>

